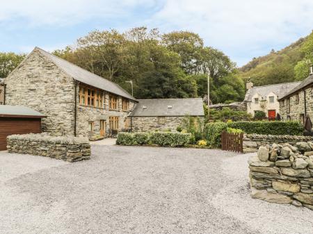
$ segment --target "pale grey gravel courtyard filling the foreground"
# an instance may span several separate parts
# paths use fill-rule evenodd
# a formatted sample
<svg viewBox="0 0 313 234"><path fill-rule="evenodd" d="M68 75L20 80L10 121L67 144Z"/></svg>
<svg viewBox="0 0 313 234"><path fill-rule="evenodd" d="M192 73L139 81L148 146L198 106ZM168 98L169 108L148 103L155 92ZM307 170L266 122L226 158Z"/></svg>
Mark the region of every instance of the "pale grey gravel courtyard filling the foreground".
<svg viewBox="0 0 313 234"><path fill-rule="evenodd" d="M0 152L0 233L313 233L311 210L250 199L248 155L92 150L74 163Z"/></svg>

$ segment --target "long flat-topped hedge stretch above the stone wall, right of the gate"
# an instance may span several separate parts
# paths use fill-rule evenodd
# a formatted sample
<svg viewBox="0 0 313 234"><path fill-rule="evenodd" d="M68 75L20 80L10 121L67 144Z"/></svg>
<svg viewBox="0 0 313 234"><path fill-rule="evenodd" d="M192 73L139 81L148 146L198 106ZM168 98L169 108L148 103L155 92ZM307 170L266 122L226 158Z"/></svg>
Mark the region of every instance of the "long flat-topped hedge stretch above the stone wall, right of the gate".
<svg viewBox="0 0 313 234"><path fill-rule="evenodd" d="M296 121L242 121L228 123L227 125L230 128L241 129L248 134L303 135L303 125Z"/></svg>

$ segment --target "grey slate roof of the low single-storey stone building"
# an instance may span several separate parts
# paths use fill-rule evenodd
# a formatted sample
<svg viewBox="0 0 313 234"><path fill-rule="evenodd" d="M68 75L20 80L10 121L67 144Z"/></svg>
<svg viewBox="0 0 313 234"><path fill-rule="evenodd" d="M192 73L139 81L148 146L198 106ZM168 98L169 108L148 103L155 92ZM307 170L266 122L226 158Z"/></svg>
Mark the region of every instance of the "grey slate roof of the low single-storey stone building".
<svg viewBox="0 0 313 234"><path fill-rule="evenodd" d="M136 108L129 116L204 116L202 98L191 99L138 99ZM168 108L172 106L172 108ZM145 108L146 107L146 108Z"/></svg>

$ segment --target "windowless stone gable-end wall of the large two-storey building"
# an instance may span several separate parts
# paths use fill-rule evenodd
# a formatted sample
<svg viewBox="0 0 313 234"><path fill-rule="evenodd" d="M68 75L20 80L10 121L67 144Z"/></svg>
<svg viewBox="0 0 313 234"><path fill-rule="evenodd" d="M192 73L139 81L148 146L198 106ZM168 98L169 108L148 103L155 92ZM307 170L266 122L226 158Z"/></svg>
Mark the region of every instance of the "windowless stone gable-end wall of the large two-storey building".
<svg viewBox="0 0 313 234"><path fill-rule="evenodd" d="M35 49L4 79L6 104L46 115L42 131L74 135L74 80Z"/></svg>

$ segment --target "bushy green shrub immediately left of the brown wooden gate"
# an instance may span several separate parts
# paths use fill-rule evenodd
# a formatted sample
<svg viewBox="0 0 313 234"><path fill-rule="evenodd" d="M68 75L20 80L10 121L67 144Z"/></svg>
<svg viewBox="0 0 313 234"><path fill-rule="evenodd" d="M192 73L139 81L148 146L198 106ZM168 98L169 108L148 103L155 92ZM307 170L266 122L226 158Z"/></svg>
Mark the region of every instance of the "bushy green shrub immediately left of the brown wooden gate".
<svg viewBox="0 0 313 234"><path fill-rule="evenodd" d="M207 142L212 147L219 148L223 131L227 130L227 124L224 122L208 123L204 128Z"/></svg>

